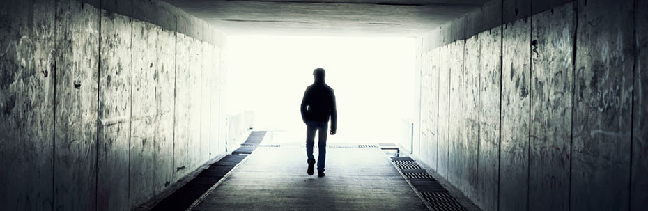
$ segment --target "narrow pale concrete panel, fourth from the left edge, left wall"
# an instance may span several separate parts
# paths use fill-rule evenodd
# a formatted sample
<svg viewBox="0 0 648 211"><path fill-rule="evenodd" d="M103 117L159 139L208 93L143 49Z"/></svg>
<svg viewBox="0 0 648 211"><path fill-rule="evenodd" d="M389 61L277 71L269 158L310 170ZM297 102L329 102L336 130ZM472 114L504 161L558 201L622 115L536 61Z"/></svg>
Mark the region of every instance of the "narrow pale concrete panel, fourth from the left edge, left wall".
<svg viewBox="0 0 648 211"><path fill-rule="evenodd" d="M155 105L155 88L157 75L157 37L160 28L148 22L138 20L132 23L132 130L130 131L130 158L140 162L130 164L130 200L144 201L155 193L155 171L138 171L138 169L155 169L156 128L148 127L157 121Z"/></svg>

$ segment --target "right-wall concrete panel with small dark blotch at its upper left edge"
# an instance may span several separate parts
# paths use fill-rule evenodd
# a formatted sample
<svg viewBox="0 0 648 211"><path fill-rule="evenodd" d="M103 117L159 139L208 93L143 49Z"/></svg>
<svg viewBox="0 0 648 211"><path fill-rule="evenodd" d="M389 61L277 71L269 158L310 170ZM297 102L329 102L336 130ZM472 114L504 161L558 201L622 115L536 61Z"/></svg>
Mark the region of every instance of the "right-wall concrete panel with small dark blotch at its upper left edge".
<svg viewBox="0 0 648 211"><path fill-rule="evenodd" d="M529 210L569 210L573 5L532 17Z"/></svg>

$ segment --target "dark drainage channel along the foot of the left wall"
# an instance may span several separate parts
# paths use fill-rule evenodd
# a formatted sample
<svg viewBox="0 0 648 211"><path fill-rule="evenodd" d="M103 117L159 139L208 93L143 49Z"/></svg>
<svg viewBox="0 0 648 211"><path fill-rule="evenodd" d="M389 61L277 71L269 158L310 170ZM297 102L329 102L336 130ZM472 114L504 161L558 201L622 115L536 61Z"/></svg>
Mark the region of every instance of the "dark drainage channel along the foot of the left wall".
<svg viewBox="0 0 648 211"><path fill-rule="evenodd" d="M187 182L167 198L164 198L151 210L191 210L202 198L215 189L219 182L227 178L229 173L247 158L247 155L252 154L252 151L256 148L263 146L260 145L263 136L265 136L265 131L252 132L245 140L245 143L242 143L240 148L234 150L231 155L226 155L219 161L210 164L196 178Z"/></svg>

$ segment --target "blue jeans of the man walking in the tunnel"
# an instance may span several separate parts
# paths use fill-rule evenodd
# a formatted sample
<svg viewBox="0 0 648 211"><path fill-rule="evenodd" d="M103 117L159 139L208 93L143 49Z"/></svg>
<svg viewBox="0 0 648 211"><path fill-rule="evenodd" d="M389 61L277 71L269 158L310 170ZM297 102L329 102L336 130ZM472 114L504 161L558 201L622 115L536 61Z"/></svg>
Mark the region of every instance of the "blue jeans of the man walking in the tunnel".
<svg viewBox="0 0 648 211"><path fill-rule="evenodd" d="M308 159L315 159L313 156L313 146L315 145L315 131L319 130L318 148L319 155L317 157L317 171L324 171L324 162L326 161L326 135L328 130L328 122L307 121L306 122L306 155Z"/></svg>

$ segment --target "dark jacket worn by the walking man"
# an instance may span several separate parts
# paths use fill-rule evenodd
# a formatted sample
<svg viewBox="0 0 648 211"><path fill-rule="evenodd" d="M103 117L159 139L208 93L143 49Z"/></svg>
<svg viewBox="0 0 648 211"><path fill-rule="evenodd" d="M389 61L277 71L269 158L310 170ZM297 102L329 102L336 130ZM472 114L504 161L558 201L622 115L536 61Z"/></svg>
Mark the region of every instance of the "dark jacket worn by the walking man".
<svg viewBox="0 0 648 211"><path fill-rule="evenodd" d="M331 130L337 129L337 110L333 89L324 81L316 81L306 88L302 99L302 120L328 122L331 117Z"/></svg>

